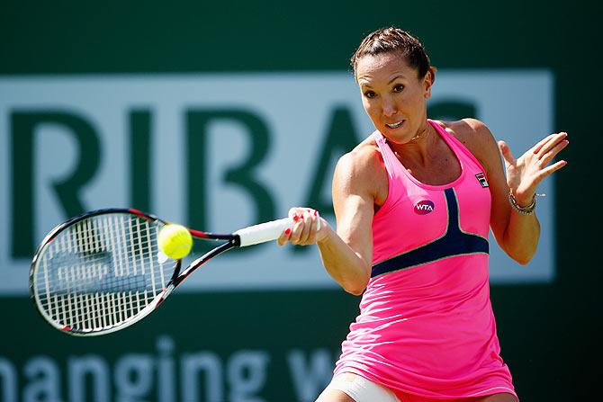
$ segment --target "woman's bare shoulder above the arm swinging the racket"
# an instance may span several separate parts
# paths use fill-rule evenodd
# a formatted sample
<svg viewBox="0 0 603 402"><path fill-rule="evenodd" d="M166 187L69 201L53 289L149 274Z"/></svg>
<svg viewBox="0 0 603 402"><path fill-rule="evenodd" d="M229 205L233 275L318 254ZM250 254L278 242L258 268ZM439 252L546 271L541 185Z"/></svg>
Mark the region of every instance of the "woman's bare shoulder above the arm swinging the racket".
<svg viewBox="0 0 603 402"><path fill-rule="evenodd" d="M383 191L387 197L387 185L383 156L373 138L366 138L339 158L333 178L334 191L370 193L379 204Z"/></svg>

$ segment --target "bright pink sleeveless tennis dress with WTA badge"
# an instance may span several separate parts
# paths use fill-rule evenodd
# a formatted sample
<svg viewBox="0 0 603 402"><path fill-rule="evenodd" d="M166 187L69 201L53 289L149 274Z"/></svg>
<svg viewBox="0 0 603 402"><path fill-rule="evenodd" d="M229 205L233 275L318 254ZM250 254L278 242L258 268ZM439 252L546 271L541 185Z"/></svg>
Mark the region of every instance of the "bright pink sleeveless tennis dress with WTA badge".
<svg viewBox="0 0 603 402"><path fill-rule="evenodd" d="M487 177L460 141L429 123L461 164L453 183L420 183L373 134L389 193L374 215L371 281L335 374L356 373L402 401L517 397L490 302Z"/></svg>

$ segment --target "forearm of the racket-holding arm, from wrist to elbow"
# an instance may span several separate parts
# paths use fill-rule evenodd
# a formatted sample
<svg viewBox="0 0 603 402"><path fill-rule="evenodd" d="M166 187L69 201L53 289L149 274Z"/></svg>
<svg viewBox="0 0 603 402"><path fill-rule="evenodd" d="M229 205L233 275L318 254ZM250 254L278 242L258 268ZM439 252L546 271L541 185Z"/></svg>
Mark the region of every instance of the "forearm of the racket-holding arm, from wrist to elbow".
<svg viewBox="0 0 603 402"><path fill-rule="evenodd" d="M365 261L332 228L328 230L327 236L317 243L322 264L344 290L362 294L371 278L371 262Z"/></svg>

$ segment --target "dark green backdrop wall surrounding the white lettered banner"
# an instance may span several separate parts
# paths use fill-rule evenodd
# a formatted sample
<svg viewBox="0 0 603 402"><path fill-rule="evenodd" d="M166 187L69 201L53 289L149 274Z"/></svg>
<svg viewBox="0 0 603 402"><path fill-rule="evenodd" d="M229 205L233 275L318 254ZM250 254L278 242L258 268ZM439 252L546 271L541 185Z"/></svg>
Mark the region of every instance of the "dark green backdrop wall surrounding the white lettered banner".
<svg viewBox="0 0 603 402"><path fill-rule="evenodd" d="M557 193L551 194L557 205L556 279L543 285L493 286L491 299L502 354L522 400L591 400L601 374L600 191L592 183L598 177L595 153L602 134L596 122L601 94L598 15L595 2L579 1L9 1L0 12L0 75L340 71L365 33L389 24L417 34L442 69L551 69L555 127L568 131L571 141L563 156L569 165L557 174ZM220 372L216 381L221 381L224 400L302 400L292 375L294 356L300 353L306 363L319 365L321 358L333 358L358 300L342 290L175 294L153 319L122 334L74 339L43 324L29 299L3 297L0 392L6 392L5 379L14 375L19 400L39 400L40 389L54 387L44 382L49 373L58 373L53 384L60 384L58 395L70 400L79 392L69 382L77 364L83 356L94 360L102 355L110 368L111 400L167 400L161 395L169 395L171 386L159 389L155 380L147 397L120 394L125 391L118 389L117 369L111 368L126 364L124 356L133 353L143 357L136 362L150 356L157 372L174 368L172 395L184 399L178 373L186 362L192 364L187 356L202 351L213 358L196 356L201 360L194 362L223 365L211 372ZM162 339L163 349L157 346ZM168 347L170 339L173 348ZM263 358L237 366L234 357L240 351L264 351L263 358L269 359L266 379L254 378L250 363L262 364ZM209 372L199 371L199 376L209 377ZM233 390L236 376L250 389L257 385L254 381L263 381L261 398L246 398L253 392L245 385ZM201 377L202 384L211 380ZM94 388L98 378L84 375L82 383ZM131 384L137 381L144 389L144 379L132 374ZM199 395L206 392L212 391L202 389Z"/></svg>

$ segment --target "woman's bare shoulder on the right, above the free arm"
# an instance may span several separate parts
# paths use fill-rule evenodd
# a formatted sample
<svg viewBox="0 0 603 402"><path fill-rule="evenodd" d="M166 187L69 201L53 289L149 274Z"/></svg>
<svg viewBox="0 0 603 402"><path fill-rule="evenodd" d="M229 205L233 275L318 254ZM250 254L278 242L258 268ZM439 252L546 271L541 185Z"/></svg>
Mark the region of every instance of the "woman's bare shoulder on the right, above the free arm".
<svg viewBox="0 0 603 402"><path fill-rule="evenodd" d="M444 130L455 136L480 161L486 170L500 163L499 147L491 130L477 119L437 121Z"/></svg>

